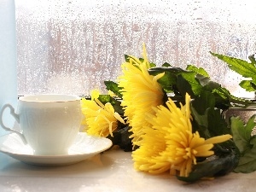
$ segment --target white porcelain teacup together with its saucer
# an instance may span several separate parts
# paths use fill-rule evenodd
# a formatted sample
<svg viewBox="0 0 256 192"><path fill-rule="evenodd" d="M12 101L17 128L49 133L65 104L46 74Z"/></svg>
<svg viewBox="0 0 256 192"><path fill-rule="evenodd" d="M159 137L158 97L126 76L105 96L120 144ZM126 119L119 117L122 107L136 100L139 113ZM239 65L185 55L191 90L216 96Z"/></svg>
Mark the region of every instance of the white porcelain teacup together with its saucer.
<svg viewBox="0 0 256 192"><path fill-rule="evenodd" d="M20 131L4 125L3 112L7 108ZM107 138L79 132L81 120L79 96L22 96L16 112L10 104L3 105L0 111L0 125L11 132L0 137L0 152L32 164L66 165L112 146Z"/></svg>

